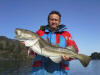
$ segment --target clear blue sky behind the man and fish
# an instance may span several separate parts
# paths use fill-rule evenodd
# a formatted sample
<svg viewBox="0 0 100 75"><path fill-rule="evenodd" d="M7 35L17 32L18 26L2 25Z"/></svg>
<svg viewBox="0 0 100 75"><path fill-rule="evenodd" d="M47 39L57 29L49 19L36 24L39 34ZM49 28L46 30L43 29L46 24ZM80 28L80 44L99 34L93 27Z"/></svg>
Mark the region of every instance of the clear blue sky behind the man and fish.
<svg viewBox="0 0 100 75"><path fill-rule="evenodd" d="M52 10L61 13L79 53L100 52L100 0L0 0L0 36L14 39L16 28L36 32Z"/></svg>

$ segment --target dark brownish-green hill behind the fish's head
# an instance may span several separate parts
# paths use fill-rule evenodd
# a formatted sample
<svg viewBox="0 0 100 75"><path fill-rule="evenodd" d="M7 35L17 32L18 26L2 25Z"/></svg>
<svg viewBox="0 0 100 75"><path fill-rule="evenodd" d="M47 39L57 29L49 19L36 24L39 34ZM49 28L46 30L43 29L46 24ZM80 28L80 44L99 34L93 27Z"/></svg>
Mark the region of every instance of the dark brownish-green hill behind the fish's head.
<svg viewBox="0 0 100 75"><path fill-rule="evenodd" d="M24 60L27 57L27 48L18 40L0 36L0 59Z"/></svg>

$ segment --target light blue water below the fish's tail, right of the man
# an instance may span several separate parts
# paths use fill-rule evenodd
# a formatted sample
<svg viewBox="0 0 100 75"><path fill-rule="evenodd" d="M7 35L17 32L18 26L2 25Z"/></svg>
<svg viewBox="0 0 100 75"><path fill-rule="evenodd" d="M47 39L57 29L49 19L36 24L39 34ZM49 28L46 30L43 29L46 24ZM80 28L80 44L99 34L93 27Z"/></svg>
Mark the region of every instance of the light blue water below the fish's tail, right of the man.
<svg viewBox="0 0 100 75"><path fill-rule="evenodd" d="M72 61L71 75L100 75L100 60L92 60L88 67L83 67L78 60Z"/></svg>

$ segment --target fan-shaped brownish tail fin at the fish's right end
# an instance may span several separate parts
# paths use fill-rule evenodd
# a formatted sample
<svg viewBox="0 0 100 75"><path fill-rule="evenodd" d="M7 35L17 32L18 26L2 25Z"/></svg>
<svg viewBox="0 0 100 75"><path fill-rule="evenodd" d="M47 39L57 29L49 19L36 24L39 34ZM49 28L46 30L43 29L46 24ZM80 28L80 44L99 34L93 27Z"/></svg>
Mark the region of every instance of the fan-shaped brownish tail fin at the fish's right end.
<svg viewBox="0 0 100 75"><path fill-rule="evenodd" d="M77 58L84 67L87 67L89 62L91 61L91 57L84 54L78 54Z"/></svg>

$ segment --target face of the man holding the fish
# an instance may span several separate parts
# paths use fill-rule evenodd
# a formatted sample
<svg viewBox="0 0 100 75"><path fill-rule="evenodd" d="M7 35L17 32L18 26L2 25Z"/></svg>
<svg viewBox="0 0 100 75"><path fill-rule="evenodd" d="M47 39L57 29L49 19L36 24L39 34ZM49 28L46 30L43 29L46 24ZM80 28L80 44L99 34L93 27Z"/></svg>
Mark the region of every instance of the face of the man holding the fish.
<svg viewBox="0 0 100 75"><path fill-rule="evenodd" d="M51 28L56 28L60 24L60 17L57 14L51 14L48 23Z"/></svg>

